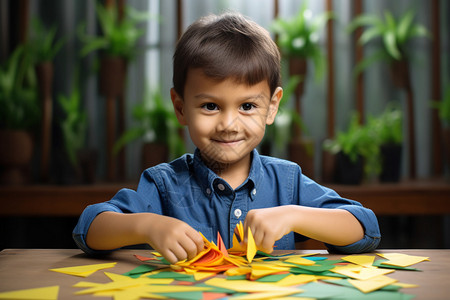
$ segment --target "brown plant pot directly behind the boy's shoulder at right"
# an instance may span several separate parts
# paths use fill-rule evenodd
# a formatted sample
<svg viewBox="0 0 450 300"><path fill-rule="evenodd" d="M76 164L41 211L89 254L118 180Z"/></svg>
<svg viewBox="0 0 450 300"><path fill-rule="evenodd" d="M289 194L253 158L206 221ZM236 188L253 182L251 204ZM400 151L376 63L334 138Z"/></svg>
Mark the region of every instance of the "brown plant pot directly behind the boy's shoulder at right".
<svg viewBox="0 0 450 300"><path fill-rule="evenodd" d="M314 141L310 139L295 140L288 145L289 160L302 168L302 173L314 178Z"/></svg>

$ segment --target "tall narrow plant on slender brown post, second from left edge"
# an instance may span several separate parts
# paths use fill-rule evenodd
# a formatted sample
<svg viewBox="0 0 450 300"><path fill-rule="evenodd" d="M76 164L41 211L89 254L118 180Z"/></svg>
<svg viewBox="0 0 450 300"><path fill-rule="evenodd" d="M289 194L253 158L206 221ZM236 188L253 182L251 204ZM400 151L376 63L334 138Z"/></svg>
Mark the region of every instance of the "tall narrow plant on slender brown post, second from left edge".
<svg viewBox="0 0 450 300"><path fill-rule="evenodd" d="M56 26L46 29L39 19L32 20L29 45L33 55L42 107L41 121L41 179L49 177L51 124L53 112L53 58L60 51L64 39L56 40Z"/></svg>

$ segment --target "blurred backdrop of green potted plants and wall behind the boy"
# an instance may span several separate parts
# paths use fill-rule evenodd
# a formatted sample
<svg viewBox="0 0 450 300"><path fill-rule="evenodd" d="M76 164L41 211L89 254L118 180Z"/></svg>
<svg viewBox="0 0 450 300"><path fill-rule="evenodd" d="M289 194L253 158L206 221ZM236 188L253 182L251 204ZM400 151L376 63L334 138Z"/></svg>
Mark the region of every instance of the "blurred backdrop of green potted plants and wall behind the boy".
<svg viewBox="0 0 450 300"><path fill-rule="evenodd" d="M380 248L450 247L448 1L3 0L0 249L75 247L86 205L194 151L172 55L189 24L226 11L282 53L259 152L372 208Z"/></svg>

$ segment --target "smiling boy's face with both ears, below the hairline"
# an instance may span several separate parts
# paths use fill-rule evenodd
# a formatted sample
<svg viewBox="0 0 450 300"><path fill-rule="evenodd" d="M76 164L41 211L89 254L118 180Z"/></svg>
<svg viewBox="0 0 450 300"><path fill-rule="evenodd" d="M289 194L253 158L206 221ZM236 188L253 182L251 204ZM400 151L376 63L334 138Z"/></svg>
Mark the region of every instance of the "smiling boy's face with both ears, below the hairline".
<svg viewBox="0 0 450 300"><path fill-rule="evenodd" d="M189 70L184 99L171 90L179 122L188 127L206 163L219 168L250 163L250 153L264 137L266 125L273 123L282 94L277 88L270 95L266 81L252 86L233 79L218 82L200 69Z"/></svg>

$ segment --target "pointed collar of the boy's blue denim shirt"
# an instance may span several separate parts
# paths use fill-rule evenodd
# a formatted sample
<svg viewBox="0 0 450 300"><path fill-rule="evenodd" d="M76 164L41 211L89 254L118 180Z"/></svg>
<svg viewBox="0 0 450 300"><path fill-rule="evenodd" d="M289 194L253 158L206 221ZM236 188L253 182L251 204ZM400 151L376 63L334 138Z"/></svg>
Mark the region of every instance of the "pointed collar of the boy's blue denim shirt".
<svg viewBox="0 0 450 300"><path fill-rule="evenodd" d="M194 159L192 160L192 169L194 176L197 178L197 182L201 187L205 196L210 198L212 196L212 191L214 190L214 183L217 180L223 180L214 173L211 169L209 169L201 159L201 153L198 148L195 149ZM247 179L237 188L241 189L247 187L250 191L250 197L254 200L257 191L258 191L258 183L262 178L262 163L261 157L256 149L252 151L252 162L250 167L249 176Z"/></svg>

